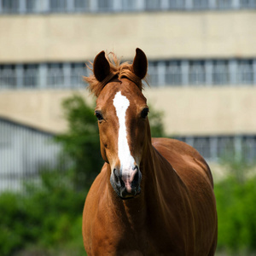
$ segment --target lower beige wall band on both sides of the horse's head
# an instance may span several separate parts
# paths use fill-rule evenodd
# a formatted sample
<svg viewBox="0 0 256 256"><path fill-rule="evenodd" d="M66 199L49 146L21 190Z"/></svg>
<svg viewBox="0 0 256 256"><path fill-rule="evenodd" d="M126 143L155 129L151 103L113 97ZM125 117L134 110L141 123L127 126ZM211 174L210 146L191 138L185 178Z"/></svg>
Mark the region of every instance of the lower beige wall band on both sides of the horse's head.
<svg viewBox="0 0 256 256"><path fill-rule="evenodd" d="M87 90L15 90L0 94L0 116L44 131L67 129L61 102L73 93L92 104ZM163 110L169 135L234 135L256 131L256 87L146 89L148 105ZM150 118L150 114L149 114Z"/></svg>

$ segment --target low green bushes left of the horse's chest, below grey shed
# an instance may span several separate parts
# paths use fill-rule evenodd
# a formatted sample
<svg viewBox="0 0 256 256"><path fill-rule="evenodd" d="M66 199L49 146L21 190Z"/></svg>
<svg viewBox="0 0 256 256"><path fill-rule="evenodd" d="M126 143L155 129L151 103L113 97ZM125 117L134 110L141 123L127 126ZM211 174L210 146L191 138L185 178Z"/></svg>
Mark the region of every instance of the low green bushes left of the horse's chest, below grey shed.
<svg viewBox="0 0 256 256"><path fill-rule="evenodd" d="M23 195L0 195L1 255L29 247L49 252L72 248L77 253L69 255L84 255L81 225L87 191L75 191L67 172L43 172L41 181L27 185Z"/></svg>

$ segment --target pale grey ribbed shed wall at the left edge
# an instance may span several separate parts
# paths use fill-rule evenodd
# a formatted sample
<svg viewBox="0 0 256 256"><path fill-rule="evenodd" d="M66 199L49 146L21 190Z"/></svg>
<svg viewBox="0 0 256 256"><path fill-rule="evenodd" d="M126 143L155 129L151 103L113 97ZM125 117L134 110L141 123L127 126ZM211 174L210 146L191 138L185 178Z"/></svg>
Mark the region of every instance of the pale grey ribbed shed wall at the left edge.
<svg viewBox="0 0 256 256"><path fill-rule="evenodd" d="M60 154L52 134L0 119L0 191L37 180L43 167L55 167Z"/></svg>

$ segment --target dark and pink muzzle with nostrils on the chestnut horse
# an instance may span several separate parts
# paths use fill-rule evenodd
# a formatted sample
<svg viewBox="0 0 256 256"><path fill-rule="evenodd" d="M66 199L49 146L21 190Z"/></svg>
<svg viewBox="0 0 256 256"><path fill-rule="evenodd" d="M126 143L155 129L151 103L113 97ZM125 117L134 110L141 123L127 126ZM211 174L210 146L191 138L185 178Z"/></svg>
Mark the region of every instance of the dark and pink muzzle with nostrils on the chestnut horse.
<svg viewBox="0 0 256 256"><path fill-rule="evenodd" d="M132 198L140 194L140 183L142 180L142 173L138 166L133 168L119 169L114 168L110 177L110 183L114 191L122 199Z"/></svg>

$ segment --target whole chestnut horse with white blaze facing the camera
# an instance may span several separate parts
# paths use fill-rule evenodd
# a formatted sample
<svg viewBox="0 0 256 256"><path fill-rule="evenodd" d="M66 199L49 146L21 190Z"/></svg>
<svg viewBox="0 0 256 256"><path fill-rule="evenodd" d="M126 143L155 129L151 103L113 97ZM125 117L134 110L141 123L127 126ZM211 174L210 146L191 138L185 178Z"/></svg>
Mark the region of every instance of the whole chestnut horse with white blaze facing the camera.
<svg viewBox="0 0 256 256"><path fill-rule="evenodd" d="M151 138L142 79L146 55L129 64L104 51L84 79L97 97L105 164L84 204L88 255L213 255L217 212L212 174L195 148Z"/></svg>

